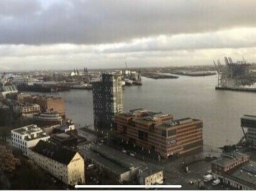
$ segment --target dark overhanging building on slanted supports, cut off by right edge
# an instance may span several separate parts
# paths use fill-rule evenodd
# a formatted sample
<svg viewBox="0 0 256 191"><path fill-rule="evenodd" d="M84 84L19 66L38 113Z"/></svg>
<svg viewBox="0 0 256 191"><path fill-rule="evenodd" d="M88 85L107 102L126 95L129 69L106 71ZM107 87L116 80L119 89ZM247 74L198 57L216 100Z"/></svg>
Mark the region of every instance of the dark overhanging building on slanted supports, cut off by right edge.
<svg viewBox="0 0 256 191"><path fill-rule="evenodd" d="M246 141L256 145L256 115L243 115L241 117L241 127ZM247 129L247 133L244 128Z"/></svg>

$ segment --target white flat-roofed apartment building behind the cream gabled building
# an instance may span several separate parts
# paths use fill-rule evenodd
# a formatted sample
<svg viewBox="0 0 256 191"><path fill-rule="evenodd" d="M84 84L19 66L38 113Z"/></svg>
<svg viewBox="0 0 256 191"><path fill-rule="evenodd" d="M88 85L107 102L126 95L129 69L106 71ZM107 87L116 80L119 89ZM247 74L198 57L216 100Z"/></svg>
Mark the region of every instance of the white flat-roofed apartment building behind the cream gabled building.
<svg viewBox="0 0 256 191"><path fill-rule="evenodd" d="M11 131L12 145L19 148L24 155L30 147L35 146L40 140L50 138L40 127L28 125Z"/></svg>

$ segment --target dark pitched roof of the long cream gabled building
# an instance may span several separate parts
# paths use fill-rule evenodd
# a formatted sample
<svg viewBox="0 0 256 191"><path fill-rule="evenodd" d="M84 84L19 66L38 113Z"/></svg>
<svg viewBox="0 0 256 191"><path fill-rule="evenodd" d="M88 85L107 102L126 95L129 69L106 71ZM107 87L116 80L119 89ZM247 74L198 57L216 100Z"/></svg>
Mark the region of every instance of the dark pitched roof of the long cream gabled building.
<svg viewBox="0 0 256 191"><path fill-rule="evenodd" d="M65 165L68 165L76 154L74 151L42 140L32 148L32 151Z"/></svg>

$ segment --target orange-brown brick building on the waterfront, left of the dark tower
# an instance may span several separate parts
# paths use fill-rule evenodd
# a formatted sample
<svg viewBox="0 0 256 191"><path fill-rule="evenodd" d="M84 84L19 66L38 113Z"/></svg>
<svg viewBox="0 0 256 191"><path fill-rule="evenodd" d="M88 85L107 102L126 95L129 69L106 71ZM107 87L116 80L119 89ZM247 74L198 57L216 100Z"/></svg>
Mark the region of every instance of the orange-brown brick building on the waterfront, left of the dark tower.
<svg viewBox="0 0 256 191"><path fill-rule="evenodd" d="M33 95L25 97L27 103L35 103L41 107L42 112L55 111L61 116L65 116L65 101L63 98Z"/></svg>

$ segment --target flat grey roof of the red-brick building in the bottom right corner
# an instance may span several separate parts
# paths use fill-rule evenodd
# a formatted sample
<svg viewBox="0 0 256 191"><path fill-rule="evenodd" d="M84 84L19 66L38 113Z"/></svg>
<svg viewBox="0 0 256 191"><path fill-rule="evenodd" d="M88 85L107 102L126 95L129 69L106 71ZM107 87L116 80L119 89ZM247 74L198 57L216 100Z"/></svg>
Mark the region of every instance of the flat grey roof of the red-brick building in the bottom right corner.
<svg viewBox="0 0 256 191"><path fill-rule="evenodd" d="M214 160L212 163L221 167L226 167L237 160L242 160L243 158L248 158L249 155L244 153L232 153L232 154L224 154L219 159Z"/></svg>

